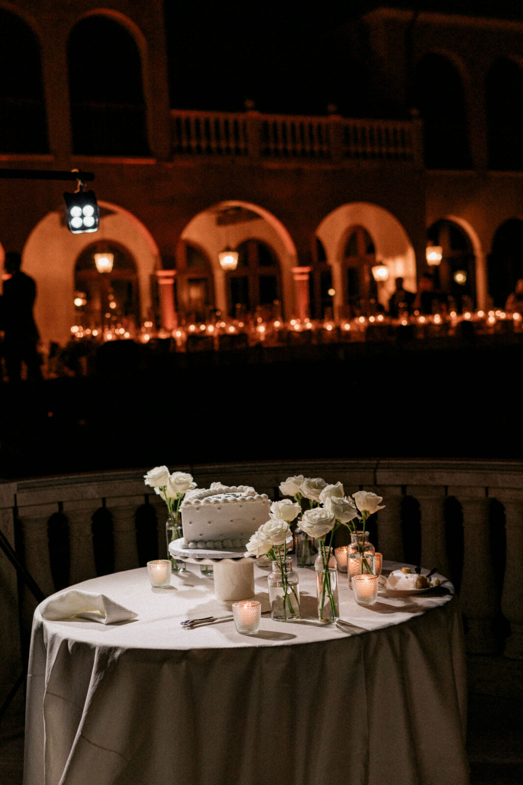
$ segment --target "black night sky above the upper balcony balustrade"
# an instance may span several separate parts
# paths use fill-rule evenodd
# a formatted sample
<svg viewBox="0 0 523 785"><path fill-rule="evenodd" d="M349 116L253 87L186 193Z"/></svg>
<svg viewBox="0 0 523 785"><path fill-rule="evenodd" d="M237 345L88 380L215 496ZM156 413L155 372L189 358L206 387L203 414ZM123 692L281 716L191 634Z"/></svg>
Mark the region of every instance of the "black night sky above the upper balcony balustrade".
<svg viewBox="0 0 523 785"><path fill-rule="evenodd" d="M354 116L365 105L365 40L355 20L372 0L165 0L171 105ZM517 0L424 0L394 7L523 19Z"/></svg>

